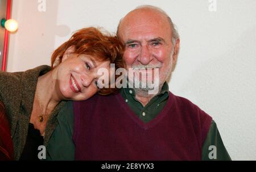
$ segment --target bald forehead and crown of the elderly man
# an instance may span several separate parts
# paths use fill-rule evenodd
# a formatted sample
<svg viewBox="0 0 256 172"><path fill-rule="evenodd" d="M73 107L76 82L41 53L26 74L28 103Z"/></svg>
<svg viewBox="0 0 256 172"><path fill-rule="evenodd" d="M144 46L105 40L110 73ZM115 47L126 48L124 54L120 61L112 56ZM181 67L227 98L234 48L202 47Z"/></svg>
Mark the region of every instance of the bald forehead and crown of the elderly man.
<svg viewBox="0 0 256 172"><path fill-rule="evenodd" d="M122 19L118 33L123 43L128 40L149 41L162 37L167 44L170 44L171 34L167 17L152 9L139 9L127 14Z"/></svg>

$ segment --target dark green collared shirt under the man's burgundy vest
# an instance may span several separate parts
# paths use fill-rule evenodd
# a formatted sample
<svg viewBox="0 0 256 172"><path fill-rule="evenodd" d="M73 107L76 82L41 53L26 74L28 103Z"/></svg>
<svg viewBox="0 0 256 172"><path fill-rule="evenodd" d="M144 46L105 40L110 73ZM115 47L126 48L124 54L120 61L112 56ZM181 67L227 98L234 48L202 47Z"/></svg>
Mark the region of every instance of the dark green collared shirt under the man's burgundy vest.
<svg viewBox="0 0 256 172"><path fill-rule="evenodd" d="M154 119L166 105L169 97L168 84L164 83L159 94L145 107L135 98L133 89L122 89L121 95L127 105L145 123ZM75 145L73 144L73 103L69 101L57 116L59 125L55 128L47 145L47 160L75 160ZM214 152L214 147L216 152ZM212 120L207 138L202 148L202 160L231 160L222 142L216 123Z"/></svg>

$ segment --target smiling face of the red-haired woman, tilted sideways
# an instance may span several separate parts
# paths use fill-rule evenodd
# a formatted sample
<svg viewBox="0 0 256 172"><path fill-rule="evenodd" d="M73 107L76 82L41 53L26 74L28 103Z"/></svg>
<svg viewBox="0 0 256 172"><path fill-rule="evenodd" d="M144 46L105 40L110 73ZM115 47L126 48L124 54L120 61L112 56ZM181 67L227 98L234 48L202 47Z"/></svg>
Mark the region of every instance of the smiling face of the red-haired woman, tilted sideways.
<svg viewBox="0 0 256 172"><path fill-rule="evenodd" d="M65 100L86 100L100 89L97 86L100 68L110 71L109 61L100 62L86 54L65 54L57 70L57 94Z"/></svg>

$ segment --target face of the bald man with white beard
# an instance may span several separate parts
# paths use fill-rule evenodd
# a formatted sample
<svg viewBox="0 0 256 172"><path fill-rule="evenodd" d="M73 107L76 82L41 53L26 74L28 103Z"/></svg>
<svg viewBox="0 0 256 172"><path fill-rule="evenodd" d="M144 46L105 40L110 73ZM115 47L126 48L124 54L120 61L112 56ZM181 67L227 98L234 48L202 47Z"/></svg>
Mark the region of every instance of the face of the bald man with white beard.
<svg viewBox="0 0 256 172"><path fill-rule="evenodd" d="M162 86L172 70L172 32L167 17L152 10L135 10L122 20L118 36L126 47L127 70L145 68L144 72L154 73L159 69ZM135 82L141 79L135 74Z"/></svg>

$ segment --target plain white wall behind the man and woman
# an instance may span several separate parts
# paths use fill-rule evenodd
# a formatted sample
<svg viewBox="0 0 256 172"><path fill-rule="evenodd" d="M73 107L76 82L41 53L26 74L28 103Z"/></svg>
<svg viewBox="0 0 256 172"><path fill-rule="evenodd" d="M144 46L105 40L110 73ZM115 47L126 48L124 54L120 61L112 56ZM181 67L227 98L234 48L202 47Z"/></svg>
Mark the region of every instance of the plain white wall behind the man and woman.
<svg viewBox="0 0 256 172"><path fill-rule="evenodd" d="M9 72L49 64L52 51L82 27L115 32L138 5L155 5L176 23L181 49L170 90L210 114L233 160L256 160L256 1L14 0L19 30L10 36Z"/></svg>

